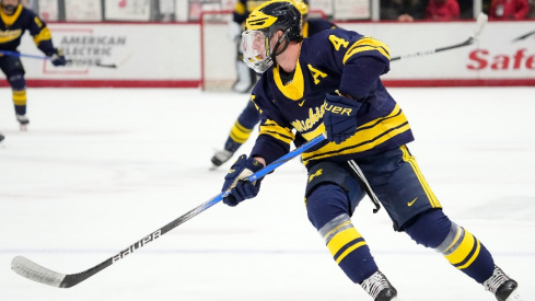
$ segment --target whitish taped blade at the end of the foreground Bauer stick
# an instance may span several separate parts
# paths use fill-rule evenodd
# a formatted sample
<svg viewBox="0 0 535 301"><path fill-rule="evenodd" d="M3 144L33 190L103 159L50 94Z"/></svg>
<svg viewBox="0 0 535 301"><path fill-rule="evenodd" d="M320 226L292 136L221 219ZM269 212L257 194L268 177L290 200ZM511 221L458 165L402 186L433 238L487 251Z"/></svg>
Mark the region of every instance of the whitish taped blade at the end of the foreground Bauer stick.
<svg viewBox="0 0 535 301"><path fill-rule="evenodd" d="M23 256L13 258L11 269L24 278L56 288L61 287L61 282L66 277L65 274L42 267Z"/></svg>

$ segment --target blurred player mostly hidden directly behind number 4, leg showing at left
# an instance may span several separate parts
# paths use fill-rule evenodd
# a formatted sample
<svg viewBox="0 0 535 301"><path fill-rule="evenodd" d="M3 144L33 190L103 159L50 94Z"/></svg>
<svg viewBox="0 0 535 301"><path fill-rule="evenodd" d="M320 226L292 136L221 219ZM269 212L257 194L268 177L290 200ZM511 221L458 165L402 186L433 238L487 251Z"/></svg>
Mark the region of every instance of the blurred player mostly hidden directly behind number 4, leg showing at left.
<svg viewBox="0 0 535 301"><path fill-rule="evenodd" d="M303 15L303 36L310 37L318 32L336 28L337 26L327 20L322 18L309 18L309 0L293 0L294 5L298 8L299 12ZM247 13L248 15L248 13ZM243 55L242 55L243 57ZM242 65L245 63L242 60ZM253 71L253 73L255 73ZM255 82L256 82L256 73L255 73ZM219 150L213 154L211 161L214 167L220 166L224 162L229 161L232 158L234 152L245 142L251 136L253 128L260 121L260 116L258 114L255 104L252 101L247 102L247 105L243 109L243 112L237 117L236 121L232 126L232 129L226 138L226 142L224 143L224 149Z"/></svg>

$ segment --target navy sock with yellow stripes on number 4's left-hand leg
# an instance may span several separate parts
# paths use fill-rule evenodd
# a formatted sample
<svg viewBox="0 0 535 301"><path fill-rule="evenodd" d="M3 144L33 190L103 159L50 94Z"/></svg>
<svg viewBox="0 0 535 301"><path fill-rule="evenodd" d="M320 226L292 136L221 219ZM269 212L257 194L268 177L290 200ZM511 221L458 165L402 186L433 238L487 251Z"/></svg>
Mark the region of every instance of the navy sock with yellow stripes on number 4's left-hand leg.
<svg viewBox="0 0 535 301"><path fill-rule="evenodd" d="M338 266L356 283L379 270L362 235L348 215L348 197L335 184L321 185L306 199L309 219L325 240Z"/></svg>

